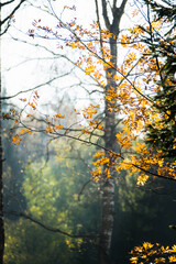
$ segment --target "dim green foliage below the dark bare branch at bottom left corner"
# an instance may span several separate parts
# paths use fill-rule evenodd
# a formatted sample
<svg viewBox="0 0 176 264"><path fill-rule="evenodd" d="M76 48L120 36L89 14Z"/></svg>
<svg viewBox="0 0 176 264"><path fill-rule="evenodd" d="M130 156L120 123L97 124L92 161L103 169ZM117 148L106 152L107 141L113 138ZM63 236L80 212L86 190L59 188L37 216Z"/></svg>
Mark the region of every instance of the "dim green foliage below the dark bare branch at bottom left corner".
<svg viewBox="0 0 176 264"><path fill-rule="evenodd" d="M67 264L73 261L73 255L74 252L58 234L50 233L23 219L6 222L7 264Z"/></svg>

